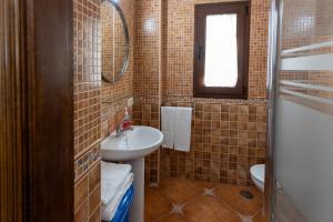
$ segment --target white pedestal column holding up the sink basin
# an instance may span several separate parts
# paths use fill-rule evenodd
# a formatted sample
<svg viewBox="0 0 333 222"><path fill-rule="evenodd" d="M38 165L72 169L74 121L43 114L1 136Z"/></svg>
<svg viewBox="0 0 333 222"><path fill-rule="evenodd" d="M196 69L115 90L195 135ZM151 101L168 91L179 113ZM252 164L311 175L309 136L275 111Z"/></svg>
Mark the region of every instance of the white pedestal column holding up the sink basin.
<svg viewBox="0 0 333 222"><path fill-rule="evenodd" d="M129 222L144 221L144 158L129 161L132 165L134 174L133 186L134 196L132 208L130 210Z"/></svg>

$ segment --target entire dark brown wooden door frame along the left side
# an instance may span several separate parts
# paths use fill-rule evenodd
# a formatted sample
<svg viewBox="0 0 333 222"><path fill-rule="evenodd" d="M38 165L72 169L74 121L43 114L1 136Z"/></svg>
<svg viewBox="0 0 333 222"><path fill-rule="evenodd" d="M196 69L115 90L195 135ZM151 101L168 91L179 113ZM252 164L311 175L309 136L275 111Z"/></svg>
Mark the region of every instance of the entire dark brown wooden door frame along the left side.
<svg viewBox="0 0 333 222"><path fill-rule="evenodd" d="M1 7L0 220L72 222L72 0Z"/></svg>

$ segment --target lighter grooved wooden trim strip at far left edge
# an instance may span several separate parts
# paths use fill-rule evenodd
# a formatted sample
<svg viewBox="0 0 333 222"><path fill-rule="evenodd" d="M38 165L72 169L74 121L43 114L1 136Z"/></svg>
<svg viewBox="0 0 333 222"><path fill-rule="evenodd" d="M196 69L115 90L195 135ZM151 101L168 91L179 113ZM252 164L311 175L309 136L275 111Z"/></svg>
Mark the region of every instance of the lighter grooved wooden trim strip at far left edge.
<svg viewBox="0 0 333 222"><path fill-rule="evenodd" d="M0 1L0 221L23 219L22 93L18 2Z"/></svg>

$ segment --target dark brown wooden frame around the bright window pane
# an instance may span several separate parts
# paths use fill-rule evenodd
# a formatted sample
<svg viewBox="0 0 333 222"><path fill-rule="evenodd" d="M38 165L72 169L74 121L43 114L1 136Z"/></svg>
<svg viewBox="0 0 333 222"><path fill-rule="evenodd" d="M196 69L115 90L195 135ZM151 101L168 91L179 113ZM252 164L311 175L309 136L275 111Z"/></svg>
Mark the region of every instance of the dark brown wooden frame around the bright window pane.
<svg viewBox="0 0 333 222"><path fill-rule="evenodd" d="M238 14L238 83L234 88L205 87L205 21L209 14ZM195 98L248 99L250 2L223 2L195 6L193 94Z"/></svg>

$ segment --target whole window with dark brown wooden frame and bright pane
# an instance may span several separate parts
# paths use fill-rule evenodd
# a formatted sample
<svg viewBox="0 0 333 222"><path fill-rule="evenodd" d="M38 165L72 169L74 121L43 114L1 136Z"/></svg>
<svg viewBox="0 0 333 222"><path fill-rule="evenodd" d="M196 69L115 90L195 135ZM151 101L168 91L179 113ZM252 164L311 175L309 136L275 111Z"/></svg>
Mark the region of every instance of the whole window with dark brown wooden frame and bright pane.
<svg viewBox="0 0 333 222"><path fill-rule="evenodd" d="M248 98L249 2L195 7L194 97Z"/></svg>

